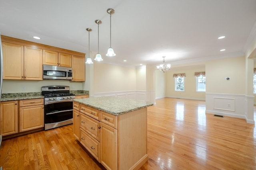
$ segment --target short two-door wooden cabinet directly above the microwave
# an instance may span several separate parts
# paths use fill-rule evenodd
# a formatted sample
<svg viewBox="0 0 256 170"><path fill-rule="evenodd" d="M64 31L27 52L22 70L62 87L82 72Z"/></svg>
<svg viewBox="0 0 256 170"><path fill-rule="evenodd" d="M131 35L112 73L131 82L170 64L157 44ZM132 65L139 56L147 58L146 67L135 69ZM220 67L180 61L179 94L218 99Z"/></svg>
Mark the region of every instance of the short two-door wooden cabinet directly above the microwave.
<svg viewBox="0 0 256 170"><path fill-rule="evenodd" d="M43 64L72 67L72 55L56 51L43 50Z"/></svg>

